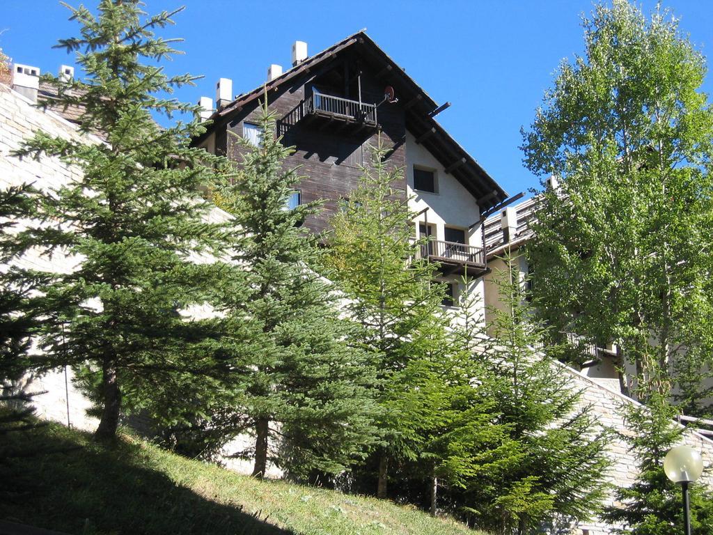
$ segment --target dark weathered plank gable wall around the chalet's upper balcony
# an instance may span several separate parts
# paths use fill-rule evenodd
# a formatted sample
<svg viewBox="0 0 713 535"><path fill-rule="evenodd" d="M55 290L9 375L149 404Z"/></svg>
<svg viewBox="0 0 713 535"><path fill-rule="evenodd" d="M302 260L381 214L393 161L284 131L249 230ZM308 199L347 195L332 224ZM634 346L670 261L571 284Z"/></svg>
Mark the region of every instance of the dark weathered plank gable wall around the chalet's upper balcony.
<svg viewBox="0 0 713 535"><path fill-rule="evenodd" d="M285 165L294 168L299 165L299 174L304 175L299 188L302 203L312 200L324 200L324 209L305 221L307 228L321 233L327 230L329 218L337 210L339 199L349 197L349 192L356 188L361 170L359 165L368 164L370 158L369 146L378 143L379 131L360 123L334 119L333 121L317 121L302 118L295 124L290 124L289 114L308 96L312 96L312 87L319 86L325 94L356 100L358 88L354 84L349 92L344 94L344 73L356 76L358 58L344 54L339 61L330 62L323 68L299 76L284 86L270 91L268 106L277 112L279 117L277 128L284 136L284 143L294 146L296 151L287 158ZM361 98L365 103L379 103L384 100L384 86L376 81L371 73L361 70ZM339 86L342 90L339 91ZM356 97L356 98L354 98ZM260 116L255 99L249 106L235 113L227 123L226 128L238 136L242 136L245 121L254 123ZM394 167L406 165L406 123L404 110L400 103L384 103L378 109L381 140L384 145L394 150L389 154L388 163ZM288 122L289 121L289 122ZM217 144L217 150L227 151L231 158L240 158L242 148L233 136L225 136ZM394 188L406 196L406 176L402 175Z"/></svg>

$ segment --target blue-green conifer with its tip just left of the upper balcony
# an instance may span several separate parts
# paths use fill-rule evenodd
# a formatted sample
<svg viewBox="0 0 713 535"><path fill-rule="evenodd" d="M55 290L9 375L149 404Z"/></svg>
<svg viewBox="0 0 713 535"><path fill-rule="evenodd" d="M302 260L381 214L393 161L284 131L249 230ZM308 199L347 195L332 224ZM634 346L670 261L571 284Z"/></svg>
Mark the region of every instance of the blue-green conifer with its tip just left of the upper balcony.
<svg viewBox="0 0 713 535"><path fill-rule="evenodd" d="M294 148L276 136L275 113L260 117L259 146L245 147L237 175L217 190L234 216L232 260L246 266L246 295L226 286L223 351L234 362L235 430L255 437L253 475L269 461L290 477L338 474L374 442L374 368L352 347L353 325L342 319L339 295L314 271L317 239L302 227L319 203L288 209L301 177L284 169ZM242 332L241 332L242 330ZM245 334L243 334L245 332ZM274 440L276 439L276 440ZM272 442L279 442L272 451Z"/></svg>

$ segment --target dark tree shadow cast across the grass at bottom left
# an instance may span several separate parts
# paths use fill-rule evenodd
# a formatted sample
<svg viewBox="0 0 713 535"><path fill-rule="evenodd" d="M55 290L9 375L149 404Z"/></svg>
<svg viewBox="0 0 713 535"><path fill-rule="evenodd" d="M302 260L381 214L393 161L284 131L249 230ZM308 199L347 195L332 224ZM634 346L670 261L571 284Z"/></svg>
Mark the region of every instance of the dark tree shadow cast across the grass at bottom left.
<svg viewBox="0 0 713 535"><path fill-rule="evenodd" d="M101 447L57 425L17 440L71 451L2 459L1 519L83 535L294 535L176 484L139 444Z"/></svg>

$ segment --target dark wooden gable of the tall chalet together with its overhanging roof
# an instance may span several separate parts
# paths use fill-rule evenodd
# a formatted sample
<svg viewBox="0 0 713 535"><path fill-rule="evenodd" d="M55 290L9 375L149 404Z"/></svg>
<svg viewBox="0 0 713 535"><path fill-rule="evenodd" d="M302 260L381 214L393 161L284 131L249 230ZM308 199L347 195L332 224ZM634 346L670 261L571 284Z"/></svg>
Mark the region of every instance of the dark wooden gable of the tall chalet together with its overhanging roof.
<svg viewBox="0 0 713 535"><path fill-rule="evenodd" d="M384 101L386 86L395 89L398 101ZM295 186L302 203L324 200L324 210L305 222L318 233L327 230L339 200L348 198L358 184L359 165L369 164L369 146L376 146L379 136L389 149L387 163L404 168L394 189L406 195L407 129L441 161L446 173L463 183L481 210L506 198L502 188L434 121L431 113L436 103L363 32L307 58L265 88L268 105L279 117L278 133L286 145L296 148L285 165L299 165L299 174L306 177ZM245 122L257 121L265 88L222 106L213 114L210 130L195 143L200 145L215 134L216 152L240 159L242 148L228 132L242 136ZM360 100L369 111L354 120L344 110L322 113L315 110L320 107L314 106L317 94L352 101L348 110Z"/></svg>

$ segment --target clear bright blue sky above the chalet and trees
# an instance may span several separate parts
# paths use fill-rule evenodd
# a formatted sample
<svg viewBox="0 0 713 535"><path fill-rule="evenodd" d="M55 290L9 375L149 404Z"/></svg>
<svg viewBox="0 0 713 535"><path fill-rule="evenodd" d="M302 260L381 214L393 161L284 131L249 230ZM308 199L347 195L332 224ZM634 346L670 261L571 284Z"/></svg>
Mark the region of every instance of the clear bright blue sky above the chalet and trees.
<svg viewBox="0 0 713 535"><path fill-rule="evenodd" d="M71 5L78 2L68 0ZM94 0L84 2L88 6ZM76 34L56 0L1 0L0 47L14 61L58 71L73 64L51 46ZM163 35L183 37L171 72L205 75L178 97L196 102L215 96L215 81L233 80L233 93L257 87L267 66L289 67L292 42L307 41L310 55L366 28L396 63L438 103L453 137L508 193L538 184L523 168L520 126L528 126L563 58L583 51L580 15L590 0L146 0L147 11L186 9ZM713 50L713 2L662 2L704 55ZM656 2L637 2L644 11ZM709 74L704 91L713 93ZM710 98L709 98L710 100Z"/></svg>

